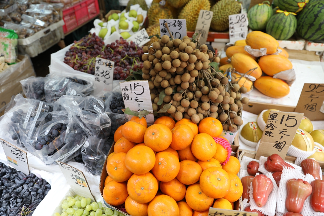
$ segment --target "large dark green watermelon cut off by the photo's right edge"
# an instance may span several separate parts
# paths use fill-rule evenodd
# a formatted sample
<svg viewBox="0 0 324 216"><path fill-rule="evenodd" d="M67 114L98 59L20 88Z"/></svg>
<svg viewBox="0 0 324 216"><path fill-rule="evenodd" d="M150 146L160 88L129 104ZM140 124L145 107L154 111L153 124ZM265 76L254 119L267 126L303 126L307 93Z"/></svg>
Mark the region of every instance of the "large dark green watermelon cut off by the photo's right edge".
<svg viewBox="0 0 324 216"><path fill-rule="evenodd" d="M324 39L324 1L314 1L298 15L297 33L306 40Z"/></svg>

